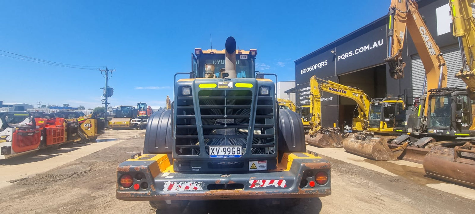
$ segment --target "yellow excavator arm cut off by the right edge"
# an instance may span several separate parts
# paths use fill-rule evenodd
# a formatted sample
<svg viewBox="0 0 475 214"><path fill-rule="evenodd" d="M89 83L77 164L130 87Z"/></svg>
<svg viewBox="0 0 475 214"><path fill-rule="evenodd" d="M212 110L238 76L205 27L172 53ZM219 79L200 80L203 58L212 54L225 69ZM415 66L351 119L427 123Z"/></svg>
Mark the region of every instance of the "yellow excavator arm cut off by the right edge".
<svg viewBox="0 0 475 214"><path fill-rule="evenodd" d="M458 39L463 67L455 76L467 85L475 99L475 0L450 0L454 36Z"/></svg>

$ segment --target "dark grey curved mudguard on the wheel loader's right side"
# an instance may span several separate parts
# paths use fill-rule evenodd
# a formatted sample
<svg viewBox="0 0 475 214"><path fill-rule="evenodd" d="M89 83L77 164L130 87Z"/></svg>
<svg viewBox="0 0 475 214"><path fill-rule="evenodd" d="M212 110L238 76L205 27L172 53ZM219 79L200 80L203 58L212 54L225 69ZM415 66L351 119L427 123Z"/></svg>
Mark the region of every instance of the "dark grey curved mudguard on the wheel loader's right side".
<svg viewBox="0 0 475 214"><path fill-rule="evenodd" d="M279 153L306 152L304 124L300 116L291 110L279 109L278 117Z"/></svg>

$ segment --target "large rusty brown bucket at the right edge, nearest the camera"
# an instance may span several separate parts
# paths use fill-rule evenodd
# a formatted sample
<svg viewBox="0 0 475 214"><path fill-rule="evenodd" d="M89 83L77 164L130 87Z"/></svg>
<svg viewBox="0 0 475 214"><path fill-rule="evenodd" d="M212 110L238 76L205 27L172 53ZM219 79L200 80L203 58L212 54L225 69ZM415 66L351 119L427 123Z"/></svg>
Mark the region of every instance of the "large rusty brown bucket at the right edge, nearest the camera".
<svg viewBox="0 0 475 214"><path fill-rule="evenodd" d="M434 146L424 157L427 175L456 184L475 187L475 144L448 148Z"/></svg>

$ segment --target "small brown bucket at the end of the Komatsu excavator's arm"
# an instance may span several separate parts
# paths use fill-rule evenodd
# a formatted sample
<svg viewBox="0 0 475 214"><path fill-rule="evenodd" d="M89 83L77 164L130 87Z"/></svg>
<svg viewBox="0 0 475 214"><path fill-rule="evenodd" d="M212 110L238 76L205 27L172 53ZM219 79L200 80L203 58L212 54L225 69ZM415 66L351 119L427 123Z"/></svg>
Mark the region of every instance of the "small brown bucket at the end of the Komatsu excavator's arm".
<svg viewBox="0 0 475 214"><path fill-rule="evenodd" d="M342 147L342 135L338 128L322 128L313 136L305 135L305 141L321 148Z"/></svg>

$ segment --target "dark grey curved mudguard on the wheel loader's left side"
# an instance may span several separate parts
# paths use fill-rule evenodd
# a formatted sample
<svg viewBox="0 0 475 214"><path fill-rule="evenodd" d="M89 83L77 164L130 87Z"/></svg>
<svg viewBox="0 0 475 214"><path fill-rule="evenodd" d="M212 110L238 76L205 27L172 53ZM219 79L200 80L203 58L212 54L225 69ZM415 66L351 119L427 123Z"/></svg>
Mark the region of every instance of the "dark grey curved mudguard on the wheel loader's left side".
<svg viewBox="0 0 475 214"><path fill-rule="evenodd" d="M171 110L154 112L145 131L143 154L171 154L173 149L173 114Z"/></svg>

